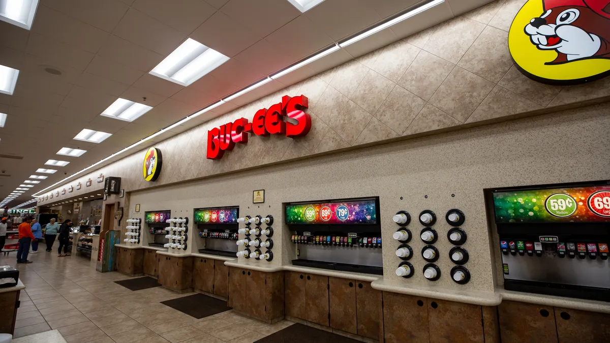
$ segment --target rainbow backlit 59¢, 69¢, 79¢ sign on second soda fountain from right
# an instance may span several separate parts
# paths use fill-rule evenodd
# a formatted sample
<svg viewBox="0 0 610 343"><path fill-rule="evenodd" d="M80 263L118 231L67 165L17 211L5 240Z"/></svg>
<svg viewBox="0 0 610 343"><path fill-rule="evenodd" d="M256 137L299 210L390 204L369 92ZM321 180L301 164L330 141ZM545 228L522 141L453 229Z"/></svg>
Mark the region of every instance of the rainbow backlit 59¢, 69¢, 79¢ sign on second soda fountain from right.
<svg viewBox="0 0 610 343"><path fill-rule="evenodd" d="M373 199L329 203L287 204L286 224L376 224Z"/></svg>

